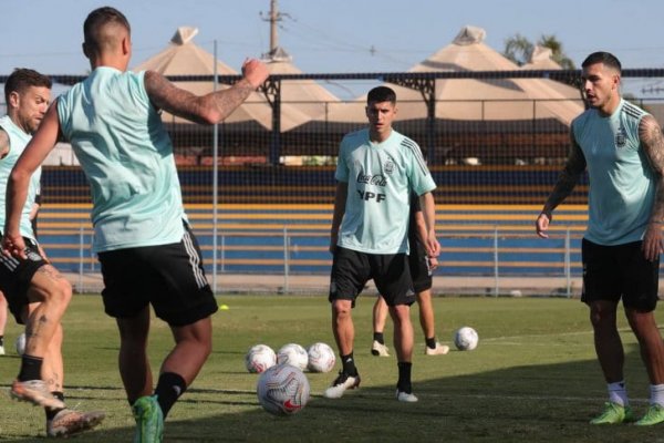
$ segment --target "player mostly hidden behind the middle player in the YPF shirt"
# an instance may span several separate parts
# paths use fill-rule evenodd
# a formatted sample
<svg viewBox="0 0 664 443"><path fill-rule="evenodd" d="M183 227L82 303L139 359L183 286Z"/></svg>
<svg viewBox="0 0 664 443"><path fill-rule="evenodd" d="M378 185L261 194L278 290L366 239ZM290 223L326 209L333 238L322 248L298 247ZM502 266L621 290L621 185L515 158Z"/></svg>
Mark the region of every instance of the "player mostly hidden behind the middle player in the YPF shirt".
<svg viewBox="0 0 664 443"><path fill-rule="evenodd" d="M408 266L413 287L417 293L417 306L419 308L419 326L424 332L426 356L445 356L449 352L449 347L439 343L436 340L436 329L434 320L434 307L432 306L432 272L438 266L437 255L439 245L435 255L429 257L422 239L426 238L426 223L419 200L415 196L411 199L411 220L408 228L408 245L411 253L408 255ZM385 344L383 331L385 330L385 320L387 319L387 303L383 297L378 296L373 307L373 342L371 353L373 356L390 357L390 349Z"/></svg>

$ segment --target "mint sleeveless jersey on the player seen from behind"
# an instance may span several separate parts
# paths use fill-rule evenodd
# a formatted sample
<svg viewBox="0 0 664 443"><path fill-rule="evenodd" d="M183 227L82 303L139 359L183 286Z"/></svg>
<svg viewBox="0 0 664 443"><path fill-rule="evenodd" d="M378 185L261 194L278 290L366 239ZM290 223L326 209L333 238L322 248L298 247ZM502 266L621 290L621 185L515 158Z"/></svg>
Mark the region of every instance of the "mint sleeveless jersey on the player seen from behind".
<svg viewBox="0 0 664 443"><path fill-rule="evenodd" d="M95 251L168 245L184 235L173 144L144 74L97 68L58 99L62 133L91 186Z"/></svg>

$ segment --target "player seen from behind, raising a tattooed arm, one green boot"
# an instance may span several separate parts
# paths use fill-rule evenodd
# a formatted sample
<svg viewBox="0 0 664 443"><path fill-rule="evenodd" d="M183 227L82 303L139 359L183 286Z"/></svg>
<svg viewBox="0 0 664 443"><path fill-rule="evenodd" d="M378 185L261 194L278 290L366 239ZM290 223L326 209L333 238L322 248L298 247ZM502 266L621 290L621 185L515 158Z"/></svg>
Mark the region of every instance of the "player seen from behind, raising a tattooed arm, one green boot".
<svg viewBox="0 0 664 443"><path fill-rule="evenodd" d="M104 308L120 330L120 373L136 420L134 441L160 442L164 419L211 351L210 316L218 308L184 213L159 110L218 123L269 73L263 63L247 60L234 86L197 96L154 71L127 71L131 28L118 10L93 10L83 33L92 72L56 99L17 163L3 247L22 255L18 222L28 183L61 133L91 184L93 249L102 265ZM151 306L175 341L154 390L147 358Z"/></svg>

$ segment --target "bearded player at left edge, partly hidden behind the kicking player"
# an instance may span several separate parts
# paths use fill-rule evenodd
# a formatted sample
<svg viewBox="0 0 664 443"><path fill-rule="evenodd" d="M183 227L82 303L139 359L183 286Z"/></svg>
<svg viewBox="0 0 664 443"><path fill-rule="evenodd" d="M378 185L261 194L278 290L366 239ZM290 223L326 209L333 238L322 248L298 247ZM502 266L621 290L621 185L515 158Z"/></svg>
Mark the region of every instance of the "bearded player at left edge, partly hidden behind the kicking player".
<svg viewBox="0 0 664 443"><path fill-rule="evenodd" d="M0 117L0 226L4 225L4 194L11 168L46 112L51 80L33 70L14 70L7 79L4 99L7 115ZM97 425L104 413L85 413L64 405L61 319L72 288L45 259L30 223L40 175L38 169L27 184L25 204L17 213L17 236L23 241L24 254L21 258L0 256L0 291L17 321L25 324L25 351L10 393L44 406L46 435L68 436ZM7 316L7 305L0 303L0 309Z"/></svg>

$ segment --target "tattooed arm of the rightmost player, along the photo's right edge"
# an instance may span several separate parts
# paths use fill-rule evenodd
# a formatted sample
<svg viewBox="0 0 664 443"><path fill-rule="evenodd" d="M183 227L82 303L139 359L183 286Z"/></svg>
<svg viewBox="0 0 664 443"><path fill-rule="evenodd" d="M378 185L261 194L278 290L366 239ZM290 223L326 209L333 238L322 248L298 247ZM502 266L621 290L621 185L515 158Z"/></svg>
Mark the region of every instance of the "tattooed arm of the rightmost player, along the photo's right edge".
<svg viewBox="0 0 664 443"><path fill-rule="evenodd" d="M664 225L664 137L662 130L652 115L646 115L639 124L639 138L643 152L655 174L655 203L643 237L643 253L649 260L655 260L662 254L662 227Z"/></svg>

